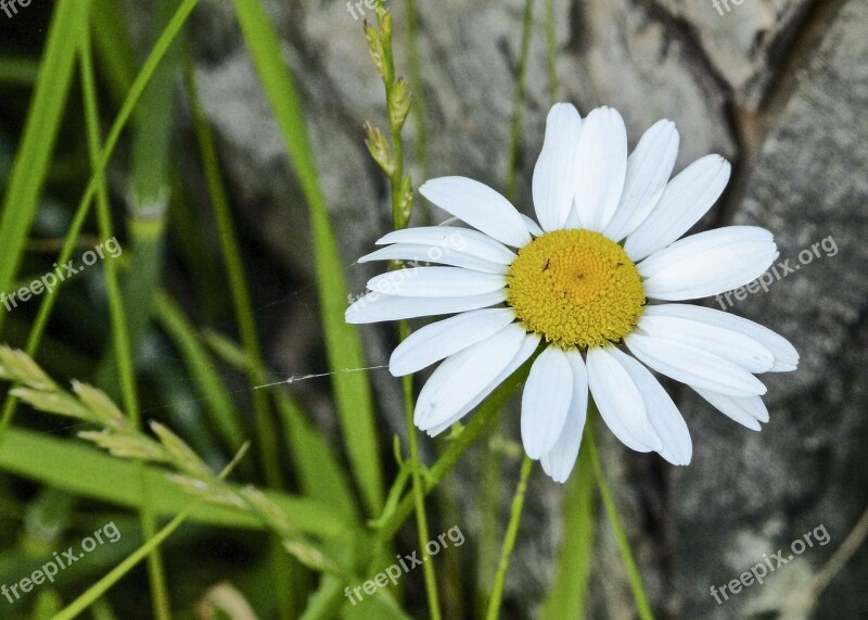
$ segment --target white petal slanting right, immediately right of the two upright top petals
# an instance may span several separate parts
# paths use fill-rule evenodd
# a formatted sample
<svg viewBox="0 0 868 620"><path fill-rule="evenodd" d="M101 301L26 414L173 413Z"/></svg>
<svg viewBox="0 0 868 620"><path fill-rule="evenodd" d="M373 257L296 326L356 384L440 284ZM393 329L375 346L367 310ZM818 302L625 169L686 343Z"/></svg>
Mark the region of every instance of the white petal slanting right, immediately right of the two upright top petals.
<svg viewBox="0 0 868 620"><path fill-rule="evenodd" d="M603 231L609 239L621 241L654 208L675 166L678 142L678 130L672 121L658 121L644 132L627 160L624 192Z"/></svg>

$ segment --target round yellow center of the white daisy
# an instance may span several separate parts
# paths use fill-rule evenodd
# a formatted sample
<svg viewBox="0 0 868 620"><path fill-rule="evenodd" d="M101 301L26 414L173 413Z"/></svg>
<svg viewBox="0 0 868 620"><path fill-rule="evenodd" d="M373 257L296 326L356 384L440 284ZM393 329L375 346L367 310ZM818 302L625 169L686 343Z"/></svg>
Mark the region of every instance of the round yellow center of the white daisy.
<svg viewBox="0 0 868 620"><path fill-rule="evenodd" d="M519 251L507 303L562 349L617 342L636 327L644 290L624 249L592 230L553 230Z"/></svg>

